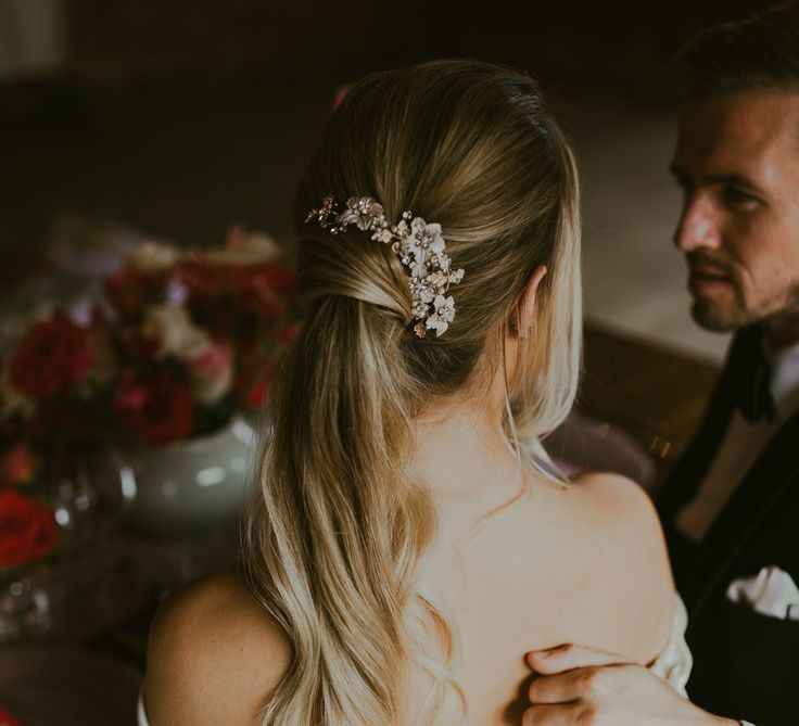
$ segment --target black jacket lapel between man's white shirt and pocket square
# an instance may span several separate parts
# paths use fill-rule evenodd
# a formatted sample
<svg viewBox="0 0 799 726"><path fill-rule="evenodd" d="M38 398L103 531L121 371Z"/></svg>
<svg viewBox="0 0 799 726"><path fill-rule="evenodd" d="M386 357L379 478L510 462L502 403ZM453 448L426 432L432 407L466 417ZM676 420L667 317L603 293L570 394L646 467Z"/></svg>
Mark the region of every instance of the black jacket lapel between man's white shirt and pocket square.
<svg viewBox="0 0 799 726"><path fill-rule="evenodd" d="M724 577L726 570L752 535L799 482L799 413L795 413L771 440L708 532L698 552L701 590L692 616Z"/></svg>

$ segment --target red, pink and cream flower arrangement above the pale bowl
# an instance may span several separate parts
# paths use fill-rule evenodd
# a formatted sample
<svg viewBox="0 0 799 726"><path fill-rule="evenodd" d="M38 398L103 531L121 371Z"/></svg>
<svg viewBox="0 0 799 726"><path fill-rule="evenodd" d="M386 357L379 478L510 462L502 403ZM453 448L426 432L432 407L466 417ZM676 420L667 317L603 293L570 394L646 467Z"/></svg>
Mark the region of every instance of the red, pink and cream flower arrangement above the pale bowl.
<svg viewBox="0 0 799 726"><path fill-rule="evenodd" d="M41 494L98 445L164 447L265 397L296 330L295 277L267 237L221 249L137 245L90 304L56 307L0 359L0 568L54 546ZM21 534L22 533L22 534Z"/></svg>

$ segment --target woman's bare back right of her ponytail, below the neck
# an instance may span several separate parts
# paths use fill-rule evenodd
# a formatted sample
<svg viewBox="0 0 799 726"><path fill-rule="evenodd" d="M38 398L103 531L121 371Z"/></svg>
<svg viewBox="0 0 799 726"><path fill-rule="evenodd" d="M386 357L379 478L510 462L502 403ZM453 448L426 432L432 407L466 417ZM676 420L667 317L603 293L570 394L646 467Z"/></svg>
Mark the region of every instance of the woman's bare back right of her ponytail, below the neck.
<svg viewBox="0 0 799 726"><path fill-rule="evenodd" d="M648 663L670 634L673 585L643 491L610 474L531 489L445 570L473 726L521 723L529 650L579 642Z"/></svg>

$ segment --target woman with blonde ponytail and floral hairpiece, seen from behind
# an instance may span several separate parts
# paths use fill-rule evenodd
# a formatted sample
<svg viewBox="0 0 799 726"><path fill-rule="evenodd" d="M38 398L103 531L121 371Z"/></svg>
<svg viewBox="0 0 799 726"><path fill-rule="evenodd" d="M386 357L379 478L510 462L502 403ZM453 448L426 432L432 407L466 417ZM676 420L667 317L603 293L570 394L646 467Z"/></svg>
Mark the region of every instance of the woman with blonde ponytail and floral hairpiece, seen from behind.
<svg viewBox="0 0 799 726"><path fill-rule="evenodd" d="M519 724L524 653L583 642L682 688L657 517L540 442L580 373L578 178L524 74L355 85L299 192L303 329L242 568L150 638L140 723ZM147 711L147 713L145 713Z"/></svg>

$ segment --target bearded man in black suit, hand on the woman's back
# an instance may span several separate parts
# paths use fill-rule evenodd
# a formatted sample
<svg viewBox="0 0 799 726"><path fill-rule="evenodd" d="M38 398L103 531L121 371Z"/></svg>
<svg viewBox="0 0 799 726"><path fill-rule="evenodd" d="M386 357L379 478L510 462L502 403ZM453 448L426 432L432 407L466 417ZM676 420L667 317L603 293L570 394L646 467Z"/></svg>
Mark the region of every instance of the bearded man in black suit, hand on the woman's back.
<svg viewBox="0 0 799 726"><path fill-rule="evenodd" d="M529 655L525 726L799 724L799 4L712 28L675 65L674 243L695 320L736 331L659 501L694 704L642 666L563 647Z"/></svg>

